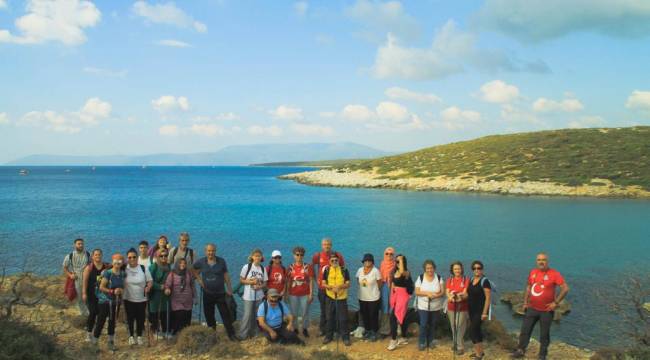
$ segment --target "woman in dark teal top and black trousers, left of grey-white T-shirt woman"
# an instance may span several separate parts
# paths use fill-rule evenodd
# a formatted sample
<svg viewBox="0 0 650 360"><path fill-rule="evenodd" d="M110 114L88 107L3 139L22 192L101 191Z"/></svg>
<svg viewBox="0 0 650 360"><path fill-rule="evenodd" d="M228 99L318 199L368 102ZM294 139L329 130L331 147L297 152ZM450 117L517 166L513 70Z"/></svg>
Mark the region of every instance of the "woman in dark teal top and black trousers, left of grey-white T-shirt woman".
<svg viewBox="0 0 650 360"><path fill-rule="evenodd" d="M125 274L122 270L124 257L117 253L112 256L111 260L113 267L102 272L101 281L99 282L99 292L97 292L99 311L93 333L93 343L97 344L106 318L108 318L108 349L115 351L115 318L120 309L119 304L124 293Z"/></svg>

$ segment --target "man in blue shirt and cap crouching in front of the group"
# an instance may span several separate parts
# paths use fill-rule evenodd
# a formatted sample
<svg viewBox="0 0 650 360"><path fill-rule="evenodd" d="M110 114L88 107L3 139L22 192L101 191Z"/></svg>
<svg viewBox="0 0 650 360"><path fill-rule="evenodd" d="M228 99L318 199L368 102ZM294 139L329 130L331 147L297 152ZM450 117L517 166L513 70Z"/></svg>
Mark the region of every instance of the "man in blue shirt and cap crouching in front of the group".
<svg viewBox="0 0 650 360"><path fill-rule="evenodd" d="M269 289L266 300L257 308L257 322L269 342L305 344L293 331L293 315L289 307L280 301L280 292L274 288Z"/></svg>

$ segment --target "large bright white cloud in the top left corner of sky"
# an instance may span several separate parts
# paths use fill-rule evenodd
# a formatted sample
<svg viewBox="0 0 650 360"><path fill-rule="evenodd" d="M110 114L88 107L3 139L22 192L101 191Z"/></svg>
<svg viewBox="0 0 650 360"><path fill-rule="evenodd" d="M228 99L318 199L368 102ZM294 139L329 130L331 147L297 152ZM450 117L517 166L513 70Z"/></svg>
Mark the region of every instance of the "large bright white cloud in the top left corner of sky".
<svg viewBox="0 0 650 360"><path fill-rule="evenodd" d="M0 42L80 45L86 42L84 29L95 26L101 18L97 7L85 0L29 0L26 10L27 14L14 22L19 34L0 29Z"/></svg>

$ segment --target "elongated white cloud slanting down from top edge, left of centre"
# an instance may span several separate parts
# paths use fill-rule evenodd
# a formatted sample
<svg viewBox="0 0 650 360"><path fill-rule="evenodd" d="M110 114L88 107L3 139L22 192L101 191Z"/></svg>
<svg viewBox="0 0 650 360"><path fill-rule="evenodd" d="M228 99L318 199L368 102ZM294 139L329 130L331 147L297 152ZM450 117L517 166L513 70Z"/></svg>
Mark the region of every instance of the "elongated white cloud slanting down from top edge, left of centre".
<svg viewBox="0 0 650 360"><path fill-rule="evenodd" d="M146 1L136 1L133 12L154 24L173 25L179 28L192 28L200 33L208 31L208 27L185 11L176 7L173 2L165 4L149 4Z"/></svg>

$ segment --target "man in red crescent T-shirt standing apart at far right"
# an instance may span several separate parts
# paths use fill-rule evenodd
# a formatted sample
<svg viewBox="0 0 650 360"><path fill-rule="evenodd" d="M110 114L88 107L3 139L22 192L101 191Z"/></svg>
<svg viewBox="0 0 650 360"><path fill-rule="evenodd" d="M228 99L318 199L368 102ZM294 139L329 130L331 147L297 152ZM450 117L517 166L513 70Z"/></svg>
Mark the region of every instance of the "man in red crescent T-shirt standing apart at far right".
<svg viewBox="0 0 650 360"><path fill-rule="evenodd" d="M560 294L555 297L555 288L560 287ZM530 271L528 284L524 292L524 322L519 333L519 346L512 354L515 359L524 357L530 335L539 321L539 360L546 360L548 345L551 342L551 323L557 306L569 292L569 286L562 275L548 267L548 256L537 254L537 268Z"/></svg>

